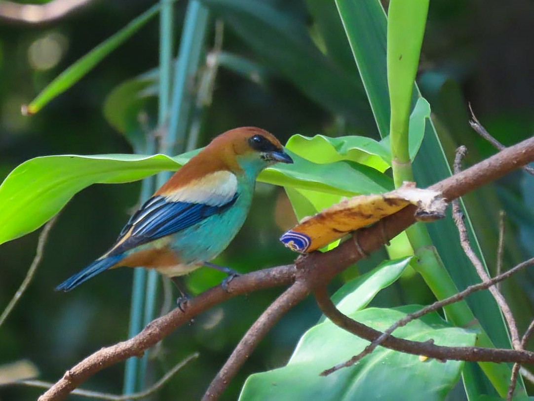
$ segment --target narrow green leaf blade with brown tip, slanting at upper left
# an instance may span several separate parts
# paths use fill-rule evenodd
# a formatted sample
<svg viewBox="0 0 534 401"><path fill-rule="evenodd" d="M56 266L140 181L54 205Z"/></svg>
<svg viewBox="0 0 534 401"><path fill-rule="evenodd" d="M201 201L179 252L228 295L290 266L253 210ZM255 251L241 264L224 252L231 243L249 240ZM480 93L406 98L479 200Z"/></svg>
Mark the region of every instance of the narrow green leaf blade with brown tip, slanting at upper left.
<svg viewBox="0 0 534 401"><path fill-rule="evenodd" d="M143 14L129 22L127 26L119 30L96 48L91 50L87 55L77 60L73 65L68 67L64 72L54 79L44 88L37 97L25 107L25 112L35 114L42 109L53 98L62 94L68 88L83 78L85 74L92 70L101 60L109 53L119 47L125 40L135 34L141 27L152 19L160 11L160 5L155 4Z"/></svg>

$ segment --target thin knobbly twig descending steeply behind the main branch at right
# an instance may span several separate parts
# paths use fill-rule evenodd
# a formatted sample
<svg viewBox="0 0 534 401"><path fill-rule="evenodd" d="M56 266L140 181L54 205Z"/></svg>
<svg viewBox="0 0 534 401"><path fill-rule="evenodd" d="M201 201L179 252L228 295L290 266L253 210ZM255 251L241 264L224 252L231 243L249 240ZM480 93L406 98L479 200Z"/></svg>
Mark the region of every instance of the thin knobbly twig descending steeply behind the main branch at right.
<svg viewBox="0 0 534 401"><path fill-rule="evenodd" d="M454 159L454 174L458 174L461 171L461 160L465 156L466 152L467 148L465 146L460 146L457 149L456 158ZM461 211L460 202L458 199L454 199L454 201L452 201L452 218L454 219L454 223L456 223L456 227L458 227L458 233L460 234L460 245L464 249L465 254L475 267L480 279L482 281L489 281L490 275L488 272L486 272L484 265L471 247L469 236L467 234L467 227L464 223L464 214ZM512 337L512 345L514 346L514 349L519 350L521 348L519 330L517 330L517 324L510 306L496 286L489 287L488 289L491 292L491 295L493 295L493 298L495 298L500 310L502 311L502 315L506 320L508 329L510 330L510 335Z"/></svg>

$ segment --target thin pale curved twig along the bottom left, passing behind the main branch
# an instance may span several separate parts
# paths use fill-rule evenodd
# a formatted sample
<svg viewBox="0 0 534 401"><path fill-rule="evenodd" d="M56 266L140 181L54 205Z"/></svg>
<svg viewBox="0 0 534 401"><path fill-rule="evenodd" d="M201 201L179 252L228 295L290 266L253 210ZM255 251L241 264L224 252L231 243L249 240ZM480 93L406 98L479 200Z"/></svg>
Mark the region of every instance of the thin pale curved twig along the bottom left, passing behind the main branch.
<svg viewBox="0 0 534 401"><path fill-rule="evenodd" d="M191 354L189 357L185 358L184 360L180 361L177 365L172 367L169 372L163 375L160 380L155 382L150 388L147 388L146 390L139 391L139 392L133 392L132 394L124 394L124 395L115 395L115 394L109 394L107 392L99 392L99 391L91 391L91 390L82 390L82 389L75 389L73 390L72 394L81 396L81 397L87 397L87 398L93 398L93 399L104 399L108 401L128 401L133 399L141 399L148 397L152 394L154 394L156 391L161 389L167 381L176 374L180 369L182 369L185 365L187 365L191 360L197 359L199 357L199 353L195 352ZM54 385L54 383L45 382L42 380L21 380L19 382L11 383L11 384L23 384L27 385L29 387L40 387L49 389Z"/></svg>

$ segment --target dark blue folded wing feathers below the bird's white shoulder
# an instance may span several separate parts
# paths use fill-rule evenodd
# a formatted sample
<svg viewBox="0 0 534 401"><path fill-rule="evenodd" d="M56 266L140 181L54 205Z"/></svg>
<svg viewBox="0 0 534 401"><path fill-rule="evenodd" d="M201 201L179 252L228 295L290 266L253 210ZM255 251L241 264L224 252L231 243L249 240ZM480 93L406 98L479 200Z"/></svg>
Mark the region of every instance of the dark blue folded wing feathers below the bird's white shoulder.
<svg viewBox="0 0 534 401"><path fill-rule="evenodd" d="M117 245L107 256L118 255L136 246L157 240L190 227L211 215L222 213L237 200L233 198L218 206L203 203L169 202L163 196L154 196L132 215L117 238ZM124 239L125 236L127 238Z"/></svg>

